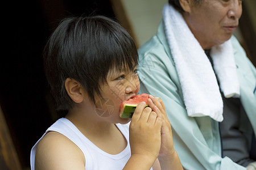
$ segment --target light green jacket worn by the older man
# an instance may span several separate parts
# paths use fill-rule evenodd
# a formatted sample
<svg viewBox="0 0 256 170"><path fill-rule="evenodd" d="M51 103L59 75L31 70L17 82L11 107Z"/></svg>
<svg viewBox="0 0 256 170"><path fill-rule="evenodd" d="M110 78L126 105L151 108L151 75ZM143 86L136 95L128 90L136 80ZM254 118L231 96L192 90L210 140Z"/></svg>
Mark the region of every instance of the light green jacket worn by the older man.
<svg viewBox="0 0 256 170"><path fill-rule="evenodd" d="M246 57L245 51L232 36L237 74L240 81L242 113L240 130L247 137L248 146L256 132L256 70ZM139 50L139 92L160 97L172 125L174 148L185 169L245 169L228 157L221 158L219 124L212 118L188 117L175 63L163 29ZM247 114L247 118L246 117ZM251 128L253 126L253 128Z"/></svg>

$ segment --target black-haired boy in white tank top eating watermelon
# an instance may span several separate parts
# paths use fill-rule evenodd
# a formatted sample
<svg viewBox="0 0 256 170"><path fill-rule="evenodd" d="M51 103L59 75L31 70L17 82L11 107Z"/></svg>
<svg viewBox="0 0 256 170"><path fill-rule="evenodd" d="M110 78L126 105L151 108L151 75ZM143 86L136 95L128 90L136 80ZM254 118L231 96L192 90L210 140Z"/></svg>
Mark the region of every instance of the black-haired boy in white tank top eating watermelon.
<svg viewBox="0 0 256 170"><path fill-rule="evenodd" d="M44 64L64 118L32 148L32 170L182 169L162 100L150 96L131 120L119 117L123 100L139 91L137 49L121 25L104 16L64 19Z"/></svg>

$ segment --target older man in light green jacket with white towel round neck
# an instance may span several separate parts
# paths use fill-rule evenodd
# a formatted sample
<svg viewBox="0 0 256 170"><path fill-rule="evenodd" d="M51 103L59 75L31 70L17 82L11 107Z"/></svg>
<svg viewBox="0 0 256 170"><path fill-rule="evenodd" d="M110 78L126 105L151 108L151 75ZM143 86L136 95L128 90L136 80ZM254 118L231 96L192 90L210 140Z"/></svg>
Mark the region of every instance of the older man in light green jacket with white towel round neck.
<svg viewBox="0 0 256 170"><path fill-rule="evenodd" d="M185 169L255 169L256 70L232 34L239 0L169 0L139 50L140 92L159 96Z"/></svg>

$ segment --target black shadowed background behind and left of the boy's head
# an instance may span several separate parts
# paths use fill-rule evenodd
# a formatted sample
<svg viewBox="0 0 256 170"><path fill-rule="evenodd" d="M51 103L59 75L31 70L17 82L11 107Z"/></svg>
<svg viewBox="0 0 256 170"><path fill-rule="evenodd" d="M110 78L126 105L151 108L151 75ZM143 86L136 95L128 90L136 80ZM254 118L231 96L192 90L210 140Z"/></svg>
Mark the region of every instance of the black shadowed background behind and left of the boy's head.
<svg viewBox="0 0 256 170"><path fill-rule="evenodd" d="M0 61L0 104L22 168L30 150L57 117L43 70L42 52L49 35L65 16L115 18L108 0L10 1L2 19L5 37Z"/></svg>

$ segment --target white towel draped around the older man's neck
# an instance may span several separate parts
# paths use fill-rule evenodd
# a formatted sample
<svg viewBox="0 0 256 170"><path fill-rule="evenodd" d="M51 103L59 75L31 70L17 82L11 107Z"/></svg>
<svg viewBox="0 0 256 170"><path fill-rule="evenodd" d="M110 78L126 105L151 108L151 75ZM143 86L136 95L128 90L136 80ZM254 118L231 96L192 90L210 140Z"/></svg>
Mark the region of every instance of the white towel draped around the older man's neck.
<svg viewBox="0 0 256 170"><path fill-rule="evenodd" d="M180 12L171 5L163 8L164 30L174 58L188 116L210 116L223 120L223 102L212 65ZM210 50L214 70L225 97L239 97L231 41Z"/></svg>

